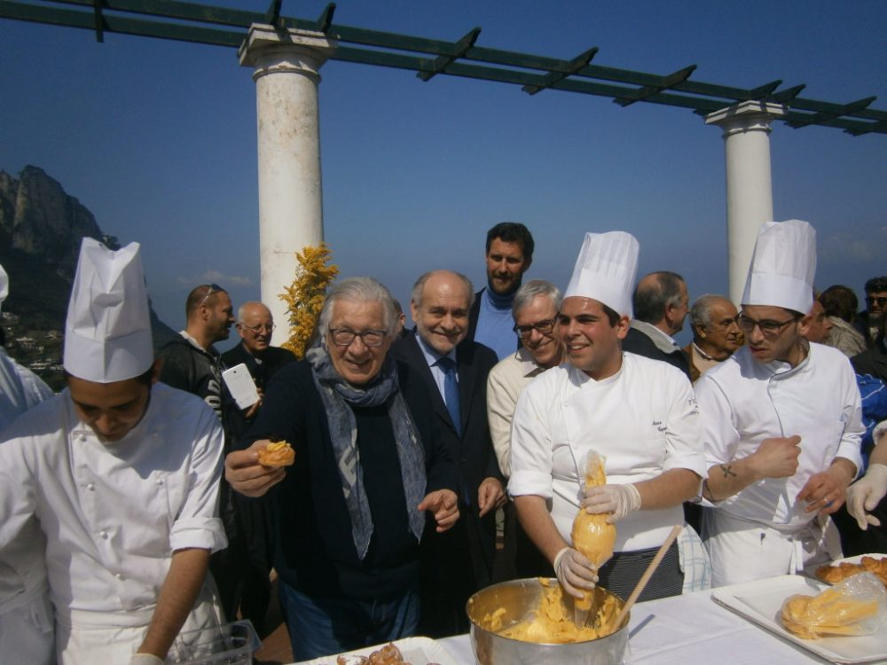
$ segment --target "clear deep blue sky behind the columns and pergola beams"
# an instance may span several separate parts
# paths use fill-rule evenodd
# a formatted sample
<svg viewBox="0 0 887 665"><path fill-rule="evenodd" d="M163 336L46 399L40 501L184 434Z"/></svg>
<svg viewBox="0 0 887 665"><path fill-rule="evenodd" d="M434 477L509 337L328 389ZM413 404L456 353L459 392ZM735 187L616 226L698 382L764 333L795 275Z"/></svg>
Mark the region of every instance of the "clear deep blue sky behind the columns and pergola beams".
<svg viewBox="0 0 887 665"><path fill-rule="evenodd" d="M216 0L264 11L267 2ZM285 0L316 18L326 3ZM334 22L737 87L782 79L805 98L878 96L887 4L825 2L337 2ZM184 325L192 286L259 296L255 84L234 49L0 20L0 168L59 180L122 242L143 246L155 308ZM640 240L640 271L677 270L691 299L726 292L724 146L686 109L327 62L320 84L326 241L344 276L408 301L424 270L483 286L494 223L537 239L529 276L564 286L585 231ZM887 274L887 135L771 135L777 220L818 232L817 286ZM234 335L236 336L236 335Z"/></svg>

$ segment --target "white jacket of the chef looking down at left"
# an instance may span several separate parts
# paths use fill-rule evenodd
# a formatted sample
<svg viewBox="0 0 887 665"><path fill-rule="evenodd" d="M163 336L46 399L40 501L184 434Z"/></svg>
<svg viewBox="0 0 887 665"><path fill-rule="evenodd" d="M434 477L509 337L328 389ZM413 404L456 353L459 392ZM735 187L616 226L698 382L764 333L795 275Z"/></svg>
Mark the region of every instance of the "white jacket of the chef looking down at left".
<svg viewBox="0 0 887 665"><path fill-rule="evenodd" d="M0 548L36 516L59 624L147 625L172 552L226 544L223 437L199 398L156 383L145 416L105 444L67 390L0 442Z"/></svg>

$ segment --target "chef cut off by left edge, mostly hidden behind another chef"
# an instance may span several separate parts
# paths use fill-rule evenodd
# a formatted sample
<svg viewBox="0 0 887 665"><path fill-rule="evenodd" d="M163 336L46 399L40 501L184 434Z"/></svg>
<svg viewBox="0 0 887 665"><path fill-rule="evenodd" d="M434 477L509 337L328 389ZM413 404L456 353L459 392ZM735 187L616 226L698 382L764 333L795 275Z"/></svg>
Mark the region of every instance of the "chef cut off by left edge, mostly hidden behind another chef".
<svg viewBox="0 0 887 665"><path fill-rule="evenodd" d="M0 305L9 277L0 266ZM0 346L0 431L21 413L49 399L52 391ZM43 551L46 539L37 520L26 520L10 544L0 547L0 659L48 665L55 659L52 606Z"/></svg>

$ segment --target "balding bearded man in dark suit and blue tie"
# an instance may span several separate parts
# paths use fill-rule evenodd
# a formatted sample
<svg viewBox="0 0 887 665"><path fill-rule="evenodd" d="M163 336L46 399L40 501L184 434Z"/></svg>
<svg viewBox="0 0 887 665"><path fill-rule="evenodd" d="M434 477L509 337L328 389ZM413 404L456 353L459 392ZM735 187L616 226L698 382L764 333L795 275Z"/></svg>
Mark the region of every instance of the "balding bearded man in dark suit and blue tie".
<svg viewBox="0 0 887 665"><path fill-rule="evenodd" d="M422 275L412 289L416 329L393 348L428 384L438 426L459 472L464 519L443 534L426 529L421 543L420 634L432 638L468 630L465 603L491 581L495 510L506 500L487 421L487 375L497 357L483 344L465 339L472 293L471 282L459 273Z"/></svg>

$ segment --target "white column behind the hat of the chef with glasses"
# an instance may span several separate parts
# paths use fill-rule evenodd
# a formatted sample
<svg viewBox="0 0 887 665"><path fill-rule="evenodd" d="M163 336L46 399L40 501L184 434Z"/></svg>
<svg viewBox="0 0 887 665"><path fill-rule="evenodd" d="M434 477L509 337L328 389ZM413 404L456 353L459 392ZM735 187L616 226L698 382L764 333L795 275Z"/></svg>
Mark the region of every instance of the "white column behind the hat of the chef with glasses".
<svg viewBox="0 0 887 665"><path fill-rule="evenodd" d="M785 113L780 104L750 101L705 116L705 124L724 130L727 270L730 300L737 307L757 230L773 221L770 123Z"/></svg>

